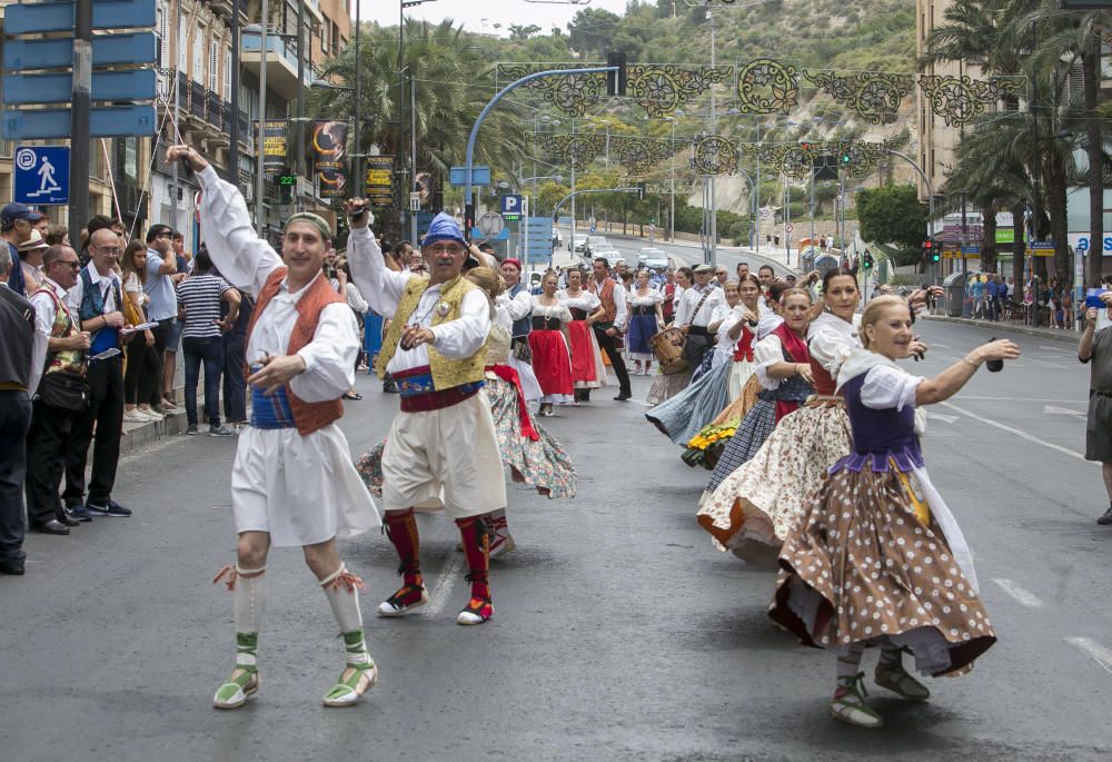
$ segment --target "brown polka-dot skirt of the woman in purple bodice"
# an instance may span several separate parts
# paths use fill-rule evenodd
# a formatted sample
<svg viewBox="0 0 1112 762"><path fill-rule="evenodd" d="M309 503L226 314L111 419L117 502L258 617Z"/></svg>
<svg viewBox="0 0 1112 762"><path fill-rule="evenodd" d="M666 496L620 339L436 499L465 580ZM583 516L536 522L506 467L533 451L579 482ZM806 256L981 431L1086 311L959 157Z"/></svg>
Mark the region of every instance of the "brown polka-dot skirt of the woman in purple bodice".
<svg viewBox="0 0 1112 762"><path fill-rule="evenodd" d="M886 640L924 674L966 671L996 636L975 573L967 567L971 581L940 526L952 521L940 503L921 468L831 474L784 543L768 615L806 645Z"/></svg>

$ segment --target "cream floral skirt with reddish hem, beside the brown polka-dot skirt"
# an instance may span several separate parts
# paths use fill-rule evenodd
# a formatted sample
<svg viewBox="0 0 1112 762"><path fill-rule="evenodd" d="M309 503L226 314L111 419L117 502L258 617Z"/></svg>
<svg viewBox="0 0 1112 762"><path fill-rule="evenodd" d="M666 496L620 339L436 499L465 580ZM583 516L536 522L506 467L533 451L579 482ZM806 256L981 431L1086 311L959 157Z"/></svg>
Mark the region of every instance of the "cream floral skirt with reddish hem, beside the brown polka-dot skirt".
<svg viewBox="0 0 1112 762"><path fill-rule="evenodd" d="M753 458L718 485L698 512L699 525L716 547L743 557L746 545L778 548L818 495L827 469L850 446L850 418L841 406L801 407L784 416Z"/></svg>

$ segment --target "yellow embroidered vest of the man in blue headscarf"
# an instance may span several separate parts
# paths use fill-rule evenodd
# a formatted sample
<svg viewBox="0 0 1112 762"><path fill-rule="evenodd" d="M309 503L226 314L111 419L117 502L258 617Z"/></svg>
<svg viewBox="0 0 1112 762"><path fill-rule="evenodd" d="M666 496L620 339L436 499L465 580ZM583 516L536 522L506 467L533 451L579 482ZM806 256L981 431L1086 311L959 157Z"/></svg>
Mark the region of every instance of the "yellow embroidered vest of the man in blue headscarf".
<svg viewBox="0 0 1112 762"><path fill-rule="evenodd" d="M383 350L378 354L378 365L375 370L379 378L386 376L386 366L390 364L390 358L398 350L401 330L408 325L410 316L417 309L421 294L428 286L429 281L425 278L410 278L406 284L406 290L398 301L398 308L394 313L389 329L386 331L386 338L383 339ZM464 304L464 296L476 288L478 286L466 278L456 278L443 284L440 299L433 308L433 325L438 326L441 323L457 319ZM483 379L486 360L485 345L474 355L464 359L450 359L438 353L433 346L427 348L428 365L433 372L433 386L438 392Z"/></svg>

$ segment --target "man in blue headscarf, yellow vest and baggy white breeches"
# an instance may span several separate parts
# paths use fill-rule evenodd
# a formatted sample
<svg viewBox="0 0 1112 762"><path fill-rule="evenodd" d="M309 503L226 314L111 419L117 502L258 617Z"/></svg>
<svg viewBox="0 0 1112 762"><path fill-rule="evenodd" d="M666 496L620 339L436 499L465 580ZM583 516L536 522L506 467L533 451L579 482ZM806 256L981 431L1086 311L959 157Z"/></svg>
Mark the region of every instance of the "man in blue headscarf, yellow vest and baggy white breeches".
<svg viewBox="0 0 1112 762"><path fill-rule="evenodd" d="M459 527L471 583L456 622L481 624L494 614L483 514L506 507L506 484L490 406L479 394L490 307L483 290L460 277L466 265L479 259L468 251L456 220L440 212L421 241L429 277L390 270L368 227L365 202L349 201L348 216L351 277L371 309L393 316L377 370L390 374L401 397L383 453L383 503L403 585L378 614L403 616L428 603L413 506L443 491L445 512Z"/></svg>

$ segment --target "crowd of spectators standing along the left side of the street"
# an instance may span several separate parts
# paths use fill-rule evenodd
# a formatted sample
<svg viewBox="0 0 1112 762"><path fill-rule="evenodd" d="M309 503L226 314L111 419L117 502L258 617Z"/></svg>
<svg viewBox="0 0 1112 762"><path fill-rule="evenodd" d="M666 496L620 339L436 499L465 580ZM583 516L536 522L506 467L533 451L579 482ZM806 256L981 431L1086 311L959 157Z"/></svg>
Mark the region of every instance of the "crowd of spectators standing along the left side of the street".
<svg viewBox="0 0 1112 762"><path fill-rule="evenodd" d="M177 412L179 350L186 433L199 424L201 367L208 434L246 425L254 300L166 225L129 241L119 220L97 215L73 246L68 228L9 204L0 238L0 573L18 575L26 531L68 535L131 516L113 499L123 425Z"/></svg>

